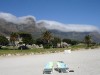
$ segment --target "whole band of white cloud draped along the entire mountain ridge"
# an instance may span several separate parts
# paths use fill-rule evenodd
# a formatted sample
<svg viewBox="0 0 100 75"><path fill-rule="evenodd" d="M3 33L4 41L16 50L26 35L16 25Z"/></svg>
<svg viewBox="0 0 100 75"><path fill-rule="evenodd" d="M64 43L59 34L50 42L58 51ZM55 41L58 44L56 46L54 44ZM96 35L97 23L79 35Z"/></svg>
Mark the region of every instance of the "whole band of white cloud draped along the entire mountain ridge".
<svg viewBox="0 0 100 75"><path fill-rule="evenodd" d="M13 22L13 23L27 23L29 22L30 18L34 19L36 22L36 19L34 16L28 15L28 16L22 16L22 17L16 17L10 13L3 13L0 12L0 18L5 19L6 21ZM28 18L29 20L26 20ZM36 22L38 27L45 27L47 29L56 29L63 32L70 32L70 31L76 31L76 32L91 32L91 31L99 31L99 29L94 25L84 25L84 24L62 24L56 21L48 21L48 20L40 20Z"/></svg>

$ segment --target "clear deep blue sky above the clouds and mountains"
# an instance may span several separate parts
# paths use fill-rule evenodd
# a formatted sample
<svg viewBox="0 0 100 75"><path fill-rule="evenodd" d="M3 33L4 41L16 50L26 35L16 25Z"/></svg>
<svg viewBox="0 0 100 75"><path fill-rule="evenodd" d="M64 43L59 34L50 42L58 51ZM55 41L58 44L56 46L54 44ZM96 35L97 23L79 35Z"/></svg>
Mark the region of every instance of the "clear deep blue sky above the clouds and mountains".
<svg viewBox="0 0 100 75"><path fill-rule="evenodd" d="M0 0L0 12L100 27L100 0Z"/></svg>

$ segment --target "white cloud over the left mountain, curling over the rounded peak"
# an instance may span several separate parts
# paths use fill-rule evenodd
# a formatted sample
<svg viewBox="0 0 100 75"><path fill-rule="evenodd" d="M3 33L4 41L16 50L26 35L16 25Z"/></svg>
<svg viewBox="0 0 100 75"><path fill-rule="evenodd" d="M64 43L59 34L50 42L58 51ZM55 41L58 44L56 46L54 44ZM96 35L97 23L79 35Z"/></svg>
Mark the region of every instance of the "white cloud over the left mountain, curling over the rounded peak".
<svg viewBox="0 0 100 75"><path fill-rule="evenodd" d="M35 17L31 15L16 17L10 13L4 13L4 12L0 12L0 18L3 18L8 22L13 22L13 23L27 23L27 21L29 21L28 19L36 21Z"/></svg>

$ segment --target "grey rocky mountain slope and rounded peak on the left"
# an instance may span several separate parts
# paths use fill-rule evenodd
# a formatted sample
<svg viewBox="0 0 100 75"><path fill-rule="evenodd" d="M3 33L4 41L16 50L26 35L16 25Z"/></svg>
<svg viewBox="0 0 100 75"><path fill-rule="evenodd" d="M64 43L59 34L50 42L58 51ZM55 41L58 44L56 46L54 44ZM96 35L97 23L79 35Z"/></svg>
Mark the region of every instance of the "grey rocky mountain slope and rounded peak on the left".
<svg viewBox="0 0 100 75"><path fill-rule="evenodd" d="M28 32L37 36L41 32L36 27L35 20L32 17L26 17L21 23L8 22L0 18L0 34L9 36L11 32Z"/></svg>

